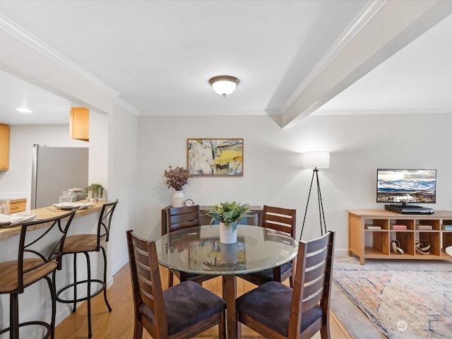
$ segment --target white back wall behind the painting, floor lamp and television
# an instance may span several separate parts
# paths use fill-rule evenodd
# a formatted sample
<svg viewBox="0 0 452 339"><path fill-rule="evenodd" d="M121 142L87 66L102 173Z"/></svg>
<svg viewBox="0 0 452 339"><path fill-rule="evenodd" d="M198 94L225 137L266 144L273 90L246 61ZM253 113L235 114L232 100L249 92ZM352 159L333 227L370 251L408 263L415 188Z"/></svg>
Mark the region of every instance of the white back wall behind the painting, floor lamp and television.
<svg viewBox="0 0 452 339"><path fill-rule="evenodd" d="M138 118L138 222L145 237L160 235L160 210L172 202L163 172L186 166L186 138L244 138L243 177L194 177L186 198L200 205L235 200L250 205L297 209L301 232L311 169L302 169L300 153L331 152L331 167L320 170L328 229L337 231L335 248L347 249L346 209L383 209L375 203L376 169L437 169L435 209L452 210L452 160L448 130L452 114L311 116L292 129L280 129L271 117ZM315 192L303 239L320 235Z"/></svg>

